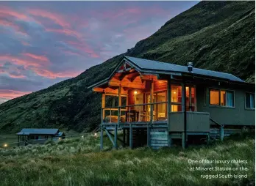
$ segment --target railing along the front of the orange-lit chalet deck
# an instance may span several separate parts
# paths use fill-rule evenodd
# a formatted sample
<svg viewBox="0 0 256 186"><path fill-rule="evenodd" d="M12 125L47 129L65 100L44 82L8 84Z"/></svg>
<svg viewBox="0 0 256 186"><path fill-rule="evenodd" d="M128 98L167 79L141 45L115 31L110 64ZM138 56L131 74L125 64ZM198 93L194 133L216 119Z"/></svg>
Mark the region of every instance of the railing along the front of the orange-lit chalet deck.
<svg viewBox="0 0 256 186"><path fill-rule="evenodd" d="M164 113L157 111L159 105L165 108L163 109L165 111ZM108 115L106 116L107 111ZM160 120L167 120L167 102L102 108L102 123L154 122Z"/></svg>

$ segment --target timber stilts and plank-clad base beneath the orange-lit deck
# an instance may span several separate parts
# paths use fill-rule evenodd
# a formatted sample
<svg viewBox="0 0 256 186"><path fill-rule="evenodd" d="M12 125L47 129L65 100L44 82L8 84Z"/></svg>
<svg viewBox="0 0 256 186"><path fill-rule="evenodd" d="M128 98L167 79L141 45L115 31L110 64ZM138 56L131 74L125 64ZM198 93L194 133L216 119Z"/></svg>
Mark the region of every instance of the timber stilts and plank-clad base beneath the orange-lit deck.
<svg viewBox="0 0 256 186"><path fill-rule="evenodd" d="M153 149L168 146L168 123L167 121L157 122L124 122L124 123L104 123L103 131L107 134L113 146L117 148L117 141L121 141L123 146L131 149L139 146L150 146ZM117 131L123 131L123 138L118 138ZM101 135L103 138L103 135ZM101 139L102 143L103 140ZM101 143L101 149L103 144Z"/></svg>

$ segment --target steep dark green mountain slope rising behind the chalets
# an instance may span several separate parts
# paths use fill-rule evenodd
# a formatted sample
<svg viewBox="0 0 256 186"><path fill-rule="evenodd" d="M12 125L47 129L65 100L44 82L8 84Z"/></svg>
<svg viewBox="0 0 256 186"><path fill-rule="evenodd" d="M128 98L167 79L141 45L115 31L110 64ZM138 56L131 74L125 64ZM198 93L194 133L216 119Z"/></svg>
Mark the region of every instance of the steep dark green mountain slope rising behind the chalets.
<svg viewBox="0 0 256 186"><path fill-rule="evenodd" d="M107 77L122 56L230 72L255 82L255 1L201 1L138 42L127 53L76 78L0 105L0 131L22 127L92 130L99 124L100 95L87 87Z"/></svg>

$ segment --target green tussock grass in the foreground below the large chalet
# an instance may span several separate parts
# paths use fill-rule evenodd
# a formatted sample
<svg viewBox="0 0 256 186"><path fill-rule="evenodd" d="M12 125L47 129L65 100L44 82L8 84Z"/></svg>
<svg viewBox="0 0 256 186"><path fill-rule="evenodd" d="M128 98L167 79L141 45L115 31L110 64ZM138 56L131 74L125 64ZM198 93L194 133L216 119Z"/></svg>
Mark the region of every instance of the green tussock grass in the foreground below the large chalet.
<svg viewBox="0 0 256 186"><path fill-rule="evenodd" d="M88 135L58 144L0 148L1 185L255 185L254 134L235 135L211 146L185 150L111 151L107 150L108 144L104 146L105 152L99 152L99 137ZM247 163L188 163L203 159ZM191 171L195 166L248 170ZM202 174L247 174L247 177L202 179Z"/></svg>

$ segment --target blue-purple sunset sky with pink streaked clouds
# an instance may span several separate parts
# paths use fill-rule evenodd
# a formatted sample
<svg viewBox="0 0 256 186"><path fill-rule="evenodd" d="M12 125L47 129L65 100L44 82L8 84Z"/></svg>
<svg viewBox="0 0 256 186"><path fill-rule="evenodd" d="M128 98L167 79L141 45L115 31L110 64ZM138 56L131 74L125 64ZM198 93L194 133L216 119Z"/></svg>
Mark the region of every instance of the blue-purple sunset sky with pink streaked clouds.
<svg viewBox="0 0 256 186"><path fill-rule="evenodd" d="M198 1L0 2L0 103L124 53Z"/></svg>

